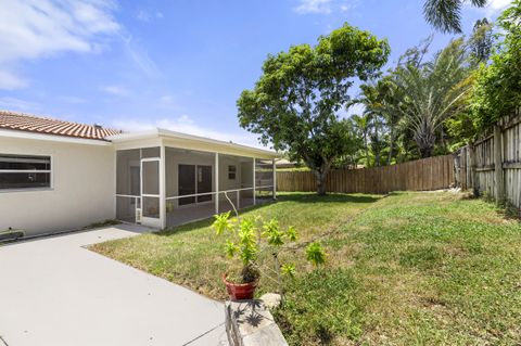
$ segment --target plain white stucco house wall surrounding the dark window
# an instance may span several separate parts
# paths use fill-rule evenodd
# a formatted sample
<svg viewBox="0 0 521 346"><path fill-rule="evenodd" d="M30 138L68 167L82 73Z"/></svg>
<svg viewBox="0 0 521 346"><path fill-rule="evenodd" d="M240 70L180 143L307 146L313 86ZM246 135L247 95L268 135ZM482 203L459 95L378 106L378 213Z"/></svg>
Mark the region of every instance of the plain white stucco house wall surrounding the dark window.
<svg viewBox="0 0 521 346"><path fill-rule="evenodd" d="M53 180L51 189L0 190L0 230L30 235L115 217L112 146L0 137L0 153L50 155Z"/></svg>

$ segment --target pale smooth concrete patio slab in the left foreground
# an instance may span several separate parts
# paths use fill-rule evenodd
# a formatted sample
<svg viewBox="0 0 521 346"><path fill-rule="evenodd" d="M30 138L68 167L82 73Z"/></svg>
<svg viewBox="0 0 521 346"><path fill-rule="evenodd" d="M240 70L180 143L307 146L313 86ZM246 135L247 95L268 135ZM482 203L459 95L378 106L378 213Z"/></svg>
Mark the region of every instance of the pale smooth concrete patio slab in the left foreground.
<svg viewBox="0 0 521 346"><path fill-rule="evenodd" d="M0 345L228 345L220 303L82 247L116 226L0 247Z"/></svg>

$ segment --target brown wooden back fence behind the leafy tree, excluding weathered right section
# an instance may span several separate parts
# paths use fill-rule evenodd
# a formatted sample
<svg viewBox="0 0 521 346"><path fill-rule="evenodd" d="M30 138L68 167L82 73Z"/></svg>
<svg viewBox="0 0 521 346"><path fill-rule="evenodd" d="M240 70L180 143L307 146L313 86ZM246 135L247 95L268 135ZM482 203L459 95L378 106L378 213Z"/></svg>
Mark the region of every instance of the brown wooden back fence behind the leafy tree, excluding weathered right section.
<svg viewBox="0 0 521 346"><path fill-rule="evenodd" d="M333 169L327 191L343 193L387 193L446 189L454 183L454 155L429 157L404 164L361 169ZM278 191L316 191L310 171L278 171Z"/></svg>

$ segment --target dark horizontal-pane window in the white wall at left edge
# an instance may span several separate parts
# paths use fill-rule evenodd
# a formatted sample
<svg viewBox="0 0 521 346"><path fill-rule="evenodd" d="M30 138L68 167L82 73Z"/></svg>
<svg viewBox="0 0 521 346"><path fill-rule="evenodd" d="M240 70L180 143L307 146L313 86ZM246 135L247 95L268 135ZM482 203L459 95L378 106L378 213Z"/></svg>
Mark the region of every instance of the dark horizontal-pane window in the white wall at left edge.
<svg viewBox="0 0 521 346"><path fill-rule="evenodd" d="M0 190L50 187L50 156L0 154Z"/></svg>

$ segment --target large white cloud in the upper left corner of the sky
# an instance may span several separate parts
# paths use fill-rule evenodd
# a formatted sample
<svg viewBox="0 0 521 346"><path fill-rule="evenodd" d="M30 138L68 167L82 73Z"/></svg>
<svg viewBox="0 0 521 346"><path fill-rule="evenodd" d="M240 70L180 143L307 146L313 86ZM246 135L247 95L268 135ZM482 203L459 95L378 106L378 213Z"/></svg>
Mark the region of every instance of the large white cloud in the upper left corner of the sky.
<svg viewBox="0 0 521 346"><path fill-rule="evenodd" d="M94 52L120 29L111 0L0 0L0 88L27 86L13 66L63 52Z"/></svg>

